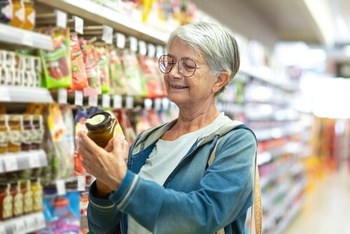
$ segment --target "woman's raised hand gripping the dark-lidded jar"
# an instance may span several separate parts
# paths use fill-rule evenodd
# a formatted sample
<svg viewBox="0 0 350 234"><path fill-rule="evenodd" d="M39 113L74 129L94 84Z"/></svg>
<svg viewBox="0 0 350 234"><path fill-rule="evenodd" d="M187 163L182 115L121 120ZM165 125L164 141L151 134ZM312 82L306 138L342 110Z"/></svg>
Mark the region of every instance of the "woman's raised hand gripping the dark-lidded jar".
<svg viewBox="0 0 350 234"><path fill-rule="evenodd" d="M124 136L114 137L102 149L86 133L79 132L78 152L86 171L96 178L97 189L103 190L100 192L107 194L119 188L127 172L129 153L129 144Z"/></svg>

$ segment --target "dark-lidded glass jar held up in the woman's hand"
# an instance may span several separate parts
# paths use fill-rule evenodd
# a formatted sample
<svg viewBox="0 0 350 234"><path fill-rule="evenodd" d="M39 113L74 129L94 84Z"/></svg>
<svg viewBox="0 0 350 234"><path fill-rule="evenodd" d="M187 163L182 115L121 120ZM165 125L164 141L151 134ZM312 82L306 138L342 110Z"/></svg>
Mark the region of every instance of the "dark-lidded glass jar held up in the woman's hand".
<svg viewBox="0 0 350 234"><path fill-rule="evenodd" d="M112 118L108 112L99 112L89 116L85 122L88 136L98 146L104 148L116 134L123 134L117 119Z"/></svg>

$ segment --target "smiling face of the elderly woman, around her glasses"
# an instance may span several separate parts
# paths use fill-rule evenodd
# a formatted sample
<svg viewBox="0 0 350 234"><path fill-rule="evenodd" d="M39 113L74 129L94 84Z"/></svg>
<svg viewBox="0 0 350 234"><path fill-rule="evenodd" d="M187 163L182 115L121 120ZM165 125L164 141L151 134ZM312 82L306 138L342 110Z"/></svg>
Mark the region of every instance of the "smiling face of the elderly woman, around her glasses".
<svg viewBox="0 0 350 234"><path fill-rule="evenodd" d="M164 74L168 98L171 101L180 106L183 104L191 104L192 106L215 100L212 87L216 82L216 76L210 71L201 54L178 38L173 40L168 54L176 61L171 71ZM191 58L196 63L196 71L190 77L184 77L178 69L178 61L185 57Z"/></svg>

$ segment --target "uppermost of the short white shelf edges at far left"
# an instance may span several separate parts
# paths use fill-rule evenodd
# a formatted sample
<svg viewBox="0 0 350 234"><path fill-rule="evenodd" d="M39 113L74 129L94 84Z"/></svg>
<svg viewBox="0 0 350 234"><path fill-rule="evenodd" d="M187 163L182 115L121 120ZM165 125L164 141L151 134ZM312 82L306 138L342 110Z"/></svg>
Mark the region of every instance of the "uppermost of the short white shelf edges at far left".
<svg viewBox="0 0 350 234"><path fill-rule="evenodd" d="M53 50L51 37L5 24L0 24L0 41L31 48Z"/></svg>

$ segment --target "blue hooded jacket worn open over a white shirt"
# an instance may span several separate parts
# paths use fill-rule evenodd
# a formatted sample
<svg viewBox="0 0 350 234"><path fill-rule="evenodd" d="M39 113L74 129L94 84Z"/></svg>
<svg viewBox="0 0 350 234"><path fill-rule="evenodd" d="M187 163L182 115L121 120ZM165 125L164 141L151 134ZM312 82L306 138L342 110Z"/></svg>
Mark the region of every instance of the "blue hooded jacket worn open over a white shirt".
<svg viewBox="0 0 350 234"><path fill-rule="evenodd" d="M127 215L157 234L205 234L224 228L226 234L245 233L257 142L244 125L234 131L220 128L199 138L163 186L140 178L157 140L175 121L140 134L130 147L128 171L108 199L89 191L89 229L99 233L127 233ZM218 139L220 137L220 141ZM216 156L208 166L215 145ZM171 149L169 149L171 150Z"/></svg>

